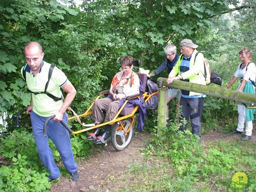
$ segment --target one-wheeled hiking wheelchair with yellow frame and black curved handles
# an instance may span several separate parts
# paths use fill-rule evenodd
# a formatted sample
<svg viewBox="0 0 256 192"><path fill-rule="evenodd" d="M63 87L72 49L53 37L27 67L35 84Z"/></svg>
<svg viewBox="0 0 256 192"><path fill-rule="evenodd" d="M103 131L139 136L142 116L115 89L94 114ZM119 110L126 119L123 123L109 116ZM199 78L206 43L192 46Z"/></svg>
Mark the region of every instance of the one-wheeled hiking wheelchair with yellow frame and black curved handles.
<svg viewBox="0 0 256 192"><path fill-rule="evenodd" d="M135 60L134 61L134 66L140 66L140 60ZM138 97L143 97L144 98L144 102L146 103L150 97L152 97L155 94L158 94L158 92L155 92L153 94L148 94L148 92L145 92L146 90L146 84L147 84L147 75L146 74L142 74L142 73L137 73L142 84L143 84L143 88L144 88L144 93L141 94L135 94L132 96L127 96L126 97L126 101L124 102L124 104L121 106L120 110L118 110L116 116L114 117L113 120L109 121L109 122L104 122L101 124L94 124L91 127L82 129L82 130L78 130L78 131L72 131L68 125L66 125L63 121L60 122L71 134L79 134L82 132L86 132L86 131L90 131L90 130L94 130L96 128L101 128L103 126L106 126L107 124L113 124L112 126L112 131L111 131L111 137L109 138L109 140L111 140L112 146L117 150L117 151L122 151L124 149L126 149L130 142L132 141L132 137L134 134L134 124L135 124L135 118L133 117L134 114L138 113L138 108L139 106L134 106L134 107L125 107L127 102L131 99L134 98L138 98ZM108 94L109 90L104 90L101 92L98 92L98 96L96 97L95 100L99 99L101 96ZM94 100L94 101L95 101ZM92 102L92 104L90 105L90 107L86 110L86 112L84 114L80 114L78 116L73 116L68 118L68 120L72 120L75 118L80 118L80 117L86 117L92 114L92 106L93 106L94 102ZM26 111L26 109L21 110L17 116L17 126L19 126L19 116L22 112ZM54 116L50 116L44 123L44 136L47 135L47 124L48 122L53 119ZM108 142L109 140L107 140L106 142ZM106 144L106 143L105 143Z"/></svg>

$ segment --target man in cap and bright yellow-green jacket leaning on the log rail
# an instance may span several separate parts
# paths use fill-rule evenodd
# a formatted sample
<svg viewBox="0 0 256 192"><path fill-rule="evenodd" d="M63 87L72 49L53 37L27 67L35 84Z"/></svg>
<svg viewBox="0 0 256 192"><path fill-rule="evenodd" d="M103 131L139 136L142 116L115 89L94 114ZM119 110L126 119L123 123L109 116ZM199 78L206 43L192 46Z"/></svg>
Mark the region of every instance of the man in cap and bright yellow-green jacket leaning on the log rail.
<svg viewBox="0 0 256 192"><path fill-rule="evenodd" d="M190 39L184 39L180 42L180 56L177 64L168 76L167 83L172 83L173 80L182 80L185 82L197 83L206 85L204 72L204 56L198 52ZM195 59L196 56L196 59ZM176 76L178 74L178 76ZM181 90L180 105L182 106L182 117L188 122L190 118L192 126L192 134L199 136L201 141L201 117L204 107L204 98L206 95L192 91ZM180 119L181 120L181 119ZM185 131L188 123L180 126L180 130Z"/></svg>

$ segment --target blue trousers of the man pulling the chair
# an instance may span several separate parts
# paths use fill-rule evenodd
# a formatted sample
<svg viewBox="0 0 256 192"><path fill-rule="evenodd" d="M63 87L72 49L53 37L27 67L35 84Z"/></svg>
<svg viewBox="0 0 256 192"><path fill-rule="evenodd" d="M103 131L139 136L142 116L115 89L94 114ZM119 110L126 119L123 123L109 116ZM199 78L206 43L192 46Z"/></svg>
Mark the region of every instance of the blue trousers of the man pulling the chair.
<svg viewBox="0 0 256 192"><path fill-rule="evenodd" d="M56 148L60 153L60 157L66 170L69 173L74 173L78 166L74 162L74 156L72 152L72 146L68 130L64 126L56 121L50 120L47 125L47 136L44 136L44 122L48 117L42 117L31 112L31 123L34 139L36 142L36 148L39 153L42 164L50 171L48 176L50 179L56 179L60 176L60 170L54 162L52 150L49 147L49 138L53 141ZM67 123L66 114L63 115L63 122Z"/></svg>

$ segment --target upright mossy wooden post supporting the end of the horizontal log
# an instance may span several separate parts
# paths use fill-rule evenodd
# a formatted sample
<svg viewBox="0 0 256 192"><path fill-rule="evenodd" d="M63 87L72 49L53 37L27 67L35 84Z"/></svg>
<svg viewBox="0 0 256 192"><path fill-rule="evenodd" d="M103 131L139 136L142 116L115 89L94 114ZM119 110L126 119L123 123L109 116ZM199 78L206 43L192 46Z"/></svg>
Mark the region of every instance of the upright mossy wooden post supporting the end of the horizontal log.
<svg viewBox="0 0 256 192"><path fill-rule="evenodd" d="M168 97L168 88L159 88L158 94L158 121L157 121L157 134L158 138L162 138L162 127L165 127L166 122L166 105Z"/></svg>

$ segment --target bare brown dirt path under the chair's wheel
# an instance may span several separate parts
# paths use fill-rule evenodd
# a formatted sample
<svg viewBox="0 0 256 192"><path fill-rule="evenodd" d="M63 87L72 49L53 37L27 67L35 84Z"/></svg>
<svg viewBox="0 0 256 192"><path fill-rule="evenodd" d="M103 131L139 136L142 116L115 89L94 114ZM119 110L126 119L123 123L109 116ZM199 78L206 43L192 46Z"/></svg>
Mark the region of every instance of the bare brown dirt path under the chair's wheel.
<svg viewBox="0 0 256 192"><path fill-rule="evenodd" d="M138 165L143 164L144 156L141 155L140 148L146 146L146 140L151 137L148 133L138 134L134 136L132 142L126 150L117 152L111 143L105 147L105 152L96 154L83 162L78 163L78 172L80 180L78 182L70 182L65 177L60 178L59 183L53 183L51 192L83 192L83 191L106 191L111 173L123 175L123 171L128 166L136 162ZM242 138L241 134L221 134L210 132L202 135L203 142L219 141L219 140L238 140ZM256 142L256 131L254 131L252 142Z"/></svg>

